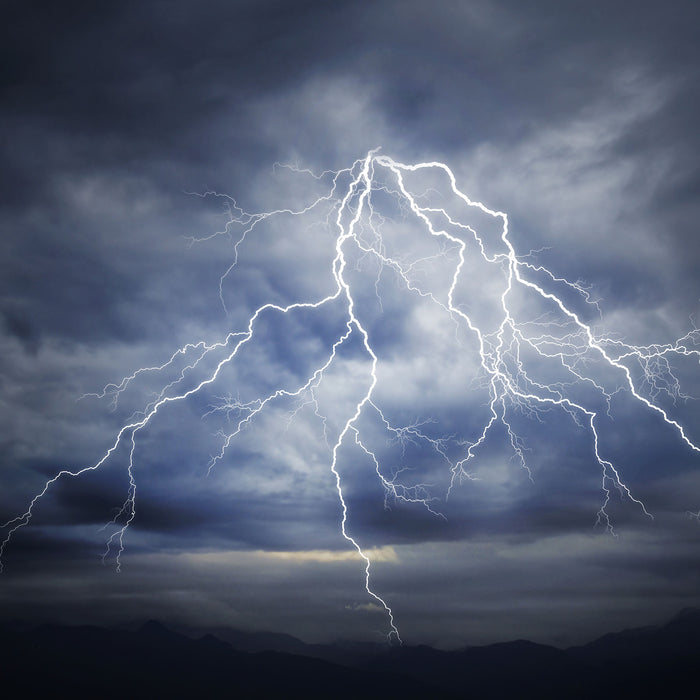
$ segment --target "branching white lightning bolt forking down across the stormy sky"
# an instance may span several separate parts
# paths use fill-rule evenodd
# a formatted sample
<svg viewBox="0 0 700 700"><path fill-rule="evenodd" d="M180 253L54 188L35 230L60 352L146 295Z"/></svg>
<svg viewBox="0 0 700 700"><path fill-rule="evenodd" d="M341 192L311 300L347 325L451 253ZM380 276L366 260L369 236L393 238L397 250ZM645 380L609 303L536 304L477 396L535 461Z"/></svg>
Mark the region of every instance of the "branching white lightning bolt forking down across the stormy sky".
<svg viewBox="0 0 700 700"><path fill-rule="evenodd" d="M489 441L496 426L505 430L513 457L532 479L526 460L525 441L517 434L513 417L519 412L534 420L544 421L549 411L560 411L590 435L592 460L601 474L602 503L597 513L597 523L615 534L607 511L612 489L635 504L646 516L653 517L623 482L618 468L603 456L599 420L601 413L610 414L613 396L618 392L627 392L643 407L660 416L690 450L700 452L698 444L663 407L662 401L668 398L675 403L678 399L687 398L673 373L672 360L680 357L700 359L698 329L671 343L646 346L630 345L596 333L581 310L600 311L590 290L581 282L557 277L537 264L533 253L518 256L509 238L507 215L471 200L459 189L455 175L444 163L405 164L374 150L349 168L338 171L316 174L297 167L290 169L323 184L326 194L299 209L262 213L248 213L226 195L211 192L202 195L223 197L228 204L229 220L225 230L207 237L225 234L234 239L233 261L220 278L221 303L225 308L225 283L236 272L247 237L254 235L258 228L274 218L315 215L324 208L325 225L335 232L334 254L328 267L331 291L317 299L288 305L265 303L252 313L243 330L231 332L216 343L200 341L187 344L164 363L140 368L120 382L107 384L101 392L91 394L98 398L109 397L111 406L116 407L121 395L137 378L147 374L158 377L175 368L180 358L187 358L176 377L164 381L155 397L146 401L143 409L122 425L99 460L82 468L60 470L46 481L21 515L4 524L6 534L0 544L0 570L7 545L20 528L30 523L37 504L47 491L60 479L76 478L100 469L124 445L128 449L129 487L126 500L112 520L117 530L107 540L103 555L103 560L106 560L112 554L119 571L124 536L136 518L133 467L138 433L165 412L170 404L186 401L214 385L224 368L235 365L243 348L256 339L263 319L274 322L285 315L320 312L321 309L342 310L342 331L328 344L324 359L313 371L292 387L277 386L266 395L248 401L229 393L211 407L209 413L225 415L229 428L219 434L221 446L211 457L208 471L211 472L222 461L241 431L270 404L280 399L296 402L296 409L289 415L290 421L302 408L311 406L323 426L330 452L329 468L341 510L340 532L364 562L365 589L386 614L390 640L401 642L392 609L373 590L370 557L350 532L350 511L341 476L341 452L353 449L361 459L369 462L384 490L387 507L391 502L402 501L418 504L436 517L444 518L444 515L437 505L439 499L432 495L432 484L404 480L404 476L411 471L411 467L404 462L399 461L391 469L383 464L378 450L371 447L371 439L365 437L367 421L372 423L375 431L387 436L388 443L400 446L401 460L406 459L407 448L428 450L433 462L443 465L448 474L444 494L447 499L458 484L476 478L470 472L471 464ZM421 175L446 180L448 187L442 192L434 188L417 190L411 186L410 180ZM456 202L463 213L473 212L496 225L497 233L480 233L477 227L465 223L463 214L455 216L452 212L454 207L450 208L445 203L437 205L441 200L446 202L448 199ZM391 200L397 207L401 225L381 213L380 203L384 200ZM387 233L389 229L390 234ZM403 232L401 235L404 237L412 237L407 243L420 240L425 250L421 248L421 252L413 256L405 252L392 252L389 239L396 236L397 229ZM192 239L192 242L201 243L203 240L206 239ZM490 289L484 292L491 309L487 320L479 320L479 314L470 311L469 299L460 302L464 289L468 288L466 270L473 261L485 266L489 279L497 280L500 284L495 293ZM383 312L381 280L384 275L391 275L409 295L428 303L438 317L448 319L460 344L464 342L461 338L468 338L476 347L479 381L488 400L486 418L470 437L439 434L435 419L394 425L387 417L386 410L381 408L376 391L380 382L381 353L376 349L377 344L372 342L370 324L363 321L363 314L358 311L358 299L363 290L357 288L358 283L354 279L358 270L366 271L372 265L377 271L373 284L380 311ZM426 274L426 271L430 273L438 268L442 274ZM523 303L525 299L530 300L528 304ZM527 309L528 305L537 309L538 313L524 312L522 307ZM333 437L331 421L323 412L318 392L329 369L338 362L341 349L350 342L359 343L367 369L361 396L338 422ZM545 382L539 366L551 368L560 379ZM197 381L196 377L200 375L195 373L201 371L205 376ZM614 377L612 381L611 376ZM697 517L695 513L691 515Z"/></svg>

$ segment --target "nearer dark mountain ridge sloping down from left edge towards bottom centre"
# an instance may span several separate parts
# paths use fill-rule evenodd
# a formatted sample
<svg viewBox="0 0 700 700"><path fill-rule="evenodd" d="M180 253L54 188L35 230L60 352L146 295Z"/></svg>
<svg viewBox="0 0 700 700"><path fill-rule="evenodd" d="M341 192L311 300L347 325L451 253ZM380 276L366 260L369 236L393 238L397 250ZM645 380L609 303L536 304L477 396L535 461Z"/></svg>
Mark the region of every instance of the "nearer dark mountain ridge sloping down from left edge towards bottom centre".
<svg viewBox="0 0 700 700"><path fill-rule="evenodd" d="M192 639L155 621L136 631L58 625L22 630L14 625L0 629L0 647L3 694L12 698L44 693L93 700L439 693L389 672L276 651L236 651L213 635Z"/></svg>

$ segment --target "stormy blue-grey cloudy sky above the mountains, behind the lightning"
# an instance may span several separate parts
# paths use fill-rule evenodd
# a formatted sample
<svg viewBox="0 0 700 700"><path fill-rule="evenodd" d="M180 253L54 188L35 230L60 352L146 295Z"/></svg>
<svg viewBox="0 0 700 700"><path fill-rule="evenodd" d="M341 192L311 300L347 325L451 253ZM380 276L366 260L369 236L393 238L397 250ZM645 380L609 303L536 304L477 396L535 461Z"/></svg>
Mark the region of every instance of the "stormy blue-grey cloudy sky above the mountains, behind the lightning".
<svg viewBox="0 0 700 700"><path fill-rule="evenodd" d="M599 310L545 273L528 268L528 279L549 285L611 352L615 341L686 336L700 312L694 5L6 3L0 517L21 517L61 469L95 466L124 425L211 377L242 338L228 334L245 332L261 305L333 295L339 202L371 149L443 162L462 192L506 212L514 251L534 251L521 260L580 281ZM323 173L343 169L335 199L264 219L241 240L251 223L242 212L303 209L329 194ZM699 605L700 454L623 390L622 370L581 346L570 317L524 288L506 297L514 322L550 338L540 350L556 355L557 341L564 351L544 358L507 330L503 367L522 392L546 384L539 396L566 394L596 413L599 455L632 498L603 479L588 414L512 394L496 407L529 473L497 425L466 467L473 478L446 497L495 386L477 336L445 309L459 240L454 307L486 334L504 322L508 266L485 261L444 216L435 225L453 238L431 237L391 171L377 164L374 175L374 214L359 212L342 247L343 279L377 356L372 399L387 423L367 404L336 466L348 533L372 559L372 589L404 641L563 645ZM476 230L487 254L507 253L502 220L460 203L444 173L407 175L406 186ZM360 204L355 191L345 230ZM52 484L5 547L0 615L383 638L388 620L342 536L331 470L371 382L357 325L314 375L347 331L343 294L261 314L216 381L160 406L135 436L135 512L129 430L99 469ZM188 369L200 342L225 345ZM695 342L681 345L686 357L625 366L697 445ZM255 412L313 377L312 390ZM413 440L398 439L418 425L403 433ZM393 498L367 451L399 496L431 498L444 517ZM606 489L616 536L597 524Z"/></svg>

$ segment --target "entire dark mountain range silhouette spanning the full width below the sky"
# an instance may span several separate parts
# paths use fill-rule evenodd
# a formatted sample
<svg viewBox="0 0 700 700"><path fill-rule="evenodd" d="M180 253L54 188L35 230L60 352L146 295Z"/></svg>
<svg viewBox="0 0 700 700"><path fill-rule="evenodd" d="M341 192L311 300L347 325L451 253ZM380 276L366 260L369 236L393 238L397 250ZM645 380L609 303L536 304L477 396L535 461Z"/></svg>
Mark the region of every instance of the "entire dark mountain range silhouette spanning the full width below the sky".
<svg viewBox="0 0 700 700"><path fill-rule="evenodd" d="M675 698L700 668L700 610L566 650L306 645L220 630L0 628L3 696L54 698ZM228 641L223 641L227 639Z"/></svg>

